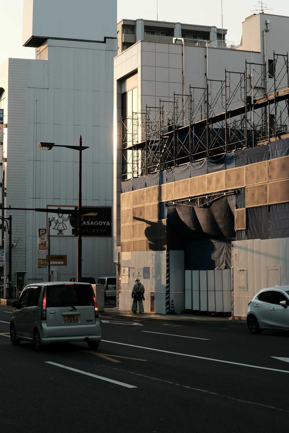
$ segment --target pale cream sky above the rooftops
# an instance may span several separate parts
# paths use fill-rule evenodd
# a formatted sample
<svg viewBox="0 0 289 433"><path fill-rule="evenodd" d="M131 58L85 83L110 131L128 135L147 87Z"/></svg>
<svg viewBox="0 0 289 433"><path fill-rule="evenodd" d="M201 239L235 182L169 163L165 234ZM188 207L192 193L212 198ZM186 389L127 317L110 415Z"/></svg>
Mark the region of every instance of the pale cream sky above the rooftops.
<svg viewBox="0 0 289 433"><path fill-rule="evenodd" d="M44 1L44 0L43 0ZM46 0L49 1L49 0ZM59 0L61 1L61 0ZM81 1L80 0L80 4ZM95 0L97 1L97 0ZM258 13L258 0L118 0L117 21L121 19L152 19L187 24L222 27L227 29L227 41L238 45L242 36L242 21ZM158 6L158 7L157 7ZM289 16L288 0L267 0L263 9L274 15ZM22 47L23 0L0 0L1 58L35 58L34 48Z"/></svg>

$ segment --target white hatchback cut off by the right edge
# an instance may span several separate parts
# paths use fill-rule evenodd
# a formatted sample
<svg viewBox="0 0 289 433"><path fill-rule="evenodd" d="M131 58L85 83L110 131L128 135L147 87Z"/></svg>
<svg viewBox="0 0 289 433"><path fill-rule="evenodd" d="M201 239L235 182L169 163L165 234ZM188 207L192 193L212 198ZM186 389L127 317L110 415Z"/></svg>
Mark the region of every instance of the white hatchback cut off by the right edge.
<svg viewBox="0 0 289 433"><path fill-rule="evenodd" d="M249 302L247 325L251 334L262 330L289 330L289 286L260 290Z"/></svg>

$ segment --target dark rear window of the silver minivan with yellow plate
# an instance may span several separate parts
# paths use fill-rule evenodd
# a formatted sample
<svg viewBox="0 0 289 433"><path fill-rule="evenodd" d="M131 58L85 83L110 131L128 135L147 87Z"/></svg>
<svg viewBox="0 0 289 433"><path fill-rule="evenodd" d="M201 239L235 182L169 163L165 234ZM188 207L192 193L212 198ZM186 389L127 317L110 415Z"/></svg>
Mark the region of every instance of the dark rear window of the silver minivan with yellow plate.
<svg viewBox="0 0 289 433"><path fill-rule="evenodd" d="M94 305L90 285L66 283L47 286L46 308L83 305Z"/></svg>

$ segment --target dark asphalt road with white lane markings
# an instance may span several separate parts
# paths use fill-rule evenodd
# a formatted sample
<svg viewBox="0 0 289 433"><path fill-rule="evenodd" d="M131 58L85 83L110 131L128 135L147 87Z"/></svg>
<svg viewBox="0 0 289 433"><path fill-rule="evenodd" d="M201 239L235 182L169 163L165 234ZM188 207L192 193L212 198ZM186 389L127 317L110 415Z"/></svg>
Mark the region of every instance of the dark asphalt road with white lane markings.
<svg viewBox="0 0 289 433"><path fill-rule="evenodd" d="M231 320L101 316L86 343L12 346L0 307L0 431L289 431L289 333Z"/></svg>

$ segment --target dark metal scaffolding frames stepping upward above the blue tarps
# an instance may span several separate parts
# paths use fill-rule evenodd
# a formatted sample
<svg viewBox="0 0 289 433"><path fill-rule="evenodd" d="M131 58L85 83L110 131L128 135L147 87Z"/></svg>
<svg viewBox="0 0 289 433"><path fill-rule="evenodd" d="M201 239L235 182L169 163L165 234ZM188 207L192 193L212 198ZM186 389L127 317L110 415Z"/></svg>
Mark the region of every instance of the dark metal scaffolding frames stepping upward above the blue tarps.
<svg viewBox="0 0 289 433"><path fill-rule="evenodd" d="M289 134L288 53L244 72L189 87L159 107L122 118L122 180L285 138Z"/></svg>

